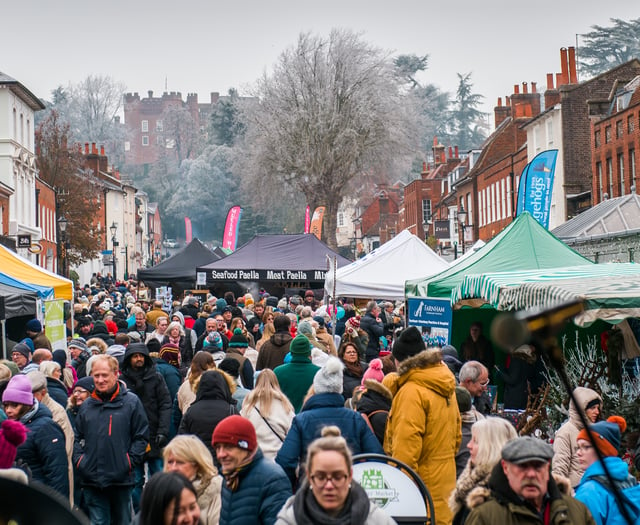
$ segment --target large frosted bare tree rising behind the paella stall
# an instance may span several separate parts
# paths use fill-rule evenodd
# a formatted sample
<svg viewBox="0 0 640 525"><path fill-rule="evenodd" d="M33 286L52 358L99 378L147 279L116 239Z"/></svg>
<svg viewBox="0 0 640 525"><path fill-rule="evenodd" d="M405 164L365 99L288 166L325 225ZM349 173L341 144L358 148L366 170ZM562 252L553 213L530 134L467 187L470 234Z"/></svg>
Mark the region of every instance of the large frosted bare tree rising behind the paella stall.
<svg viewBox="0 0 640 525"><path fill-rule="evenodd" d="M384 171L415 147L412 110L389 55L359 35L301 34L243 112L243 173L262 191L282 185L324 205L323 237L336 247L336 214L349 183ZM265 184L266 183L266 184Z"/></svg>

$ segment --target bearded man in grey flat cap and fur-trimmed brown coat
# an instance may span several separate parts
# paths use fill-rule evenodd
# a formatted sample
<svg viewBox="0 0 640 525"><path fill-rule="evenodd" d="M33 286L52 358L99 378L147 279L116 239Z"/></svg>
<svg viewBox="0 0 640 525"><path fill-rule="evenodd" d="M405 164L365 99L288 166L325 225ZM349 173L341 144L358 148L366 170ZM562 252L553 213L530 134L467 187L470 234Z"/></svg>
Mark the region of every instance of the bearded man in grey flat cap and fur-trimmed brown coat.
<svg viewBox="0 0 640 525"><path fill-rule="evenodd" d="M489 479L489 490L478 487L468 497L473 510L466 525L495 523L583 523L593 517L570 496L568 481L558 484L550 475L553 447L526 436L502 449L502 460Z"/></svg>

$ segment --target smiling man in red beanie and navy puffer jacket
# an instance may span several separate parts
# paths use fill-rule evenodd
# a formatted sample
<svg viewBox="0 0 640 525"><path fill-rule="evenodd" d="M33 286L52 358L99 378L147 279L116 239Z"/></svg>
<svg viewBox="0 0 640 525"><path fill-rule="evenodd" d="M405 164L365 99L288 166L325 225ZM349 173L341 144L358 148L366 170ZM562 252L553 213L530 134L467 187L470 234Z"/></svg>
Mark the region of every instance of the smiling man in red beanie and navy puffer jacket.
<svg viewBox="0 0 640 525"><path fill-rule="evenodd" d="M216 426L211 445L222 467L220 525L272 525L291 496L284 470L262 455L256 430L233 415Z"/></svg>

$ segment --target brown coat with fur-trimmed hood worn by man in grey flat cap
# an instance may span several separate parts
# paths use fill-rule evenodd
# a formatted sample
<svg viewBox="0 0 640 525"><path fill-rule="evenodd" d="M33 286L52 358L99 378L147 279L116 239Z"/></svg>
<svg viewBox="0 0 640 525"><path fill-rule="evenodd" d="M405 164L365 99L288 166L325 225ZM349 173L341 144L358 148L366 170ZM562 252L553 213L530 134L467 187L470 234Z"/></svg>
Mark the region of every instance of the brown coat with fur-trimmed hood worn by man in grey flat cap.
<svg viewBox="0 0 640 525"><path fill-rule="evenodd" d="M591 513L583 503L569 495L569 480L549 477L550 525L595 525ZM479 487L467 498L471 514L465 525L528 525L542 524L542 516L531 505L524 502L509 486L509 480L498 463L491 471L488 488Z"/></svg>

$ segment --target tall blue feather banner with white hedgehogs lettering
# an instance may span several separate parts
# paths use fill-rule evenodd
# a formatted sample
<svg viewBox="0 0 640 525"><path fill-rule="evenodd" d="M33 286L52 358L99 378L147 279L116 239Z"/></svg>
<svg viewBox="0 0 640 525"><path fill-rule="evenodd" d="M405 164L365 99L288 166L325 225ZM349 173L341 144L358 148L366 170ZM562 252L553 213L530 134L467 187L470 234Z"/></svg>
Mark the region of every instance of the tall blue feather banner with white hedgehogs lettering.
<svg viewBox="0 0 640 525"><path fill-rule="evenodd" d="M535 220L545 228L549 227L551 211L551 192L556 171L558 150L550 149L538 153L528 164L524 191L524 211L528 211ZM520 186L522 186L520 179ZM518 208L520 207L520 190L518 189Z"/></svg>

